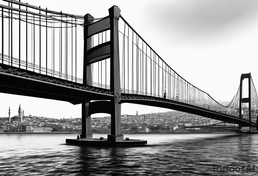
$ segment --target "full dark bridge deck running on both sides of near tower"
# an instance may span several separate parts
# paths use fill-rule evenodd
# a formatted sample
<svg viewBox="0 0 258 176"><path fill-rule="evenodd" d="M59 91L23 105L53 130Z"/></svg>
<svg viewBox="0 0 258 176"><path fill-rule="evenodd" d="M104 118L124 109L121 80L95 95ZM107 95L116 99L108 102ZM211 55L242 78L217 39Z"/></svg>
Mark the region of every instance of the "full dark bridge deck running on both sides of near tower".
<svg viewBox="0 0 258 176"><path fill-rule="evenodd" d="M114 97L114 92L109 89L85 86L83 84L69 82L60 78L38 74L5 64L0 64L0 66L0 92L2 93L67 101L72 104L82 103L83 98L90 100L111 100ZM246 119L239 119L235 116L201 108L192 104L154 96L122 93L121 103L135 103L173 109L229 123L249 126L249 121ZM253 122L253 125L256 125L256 123Z"/></svg>

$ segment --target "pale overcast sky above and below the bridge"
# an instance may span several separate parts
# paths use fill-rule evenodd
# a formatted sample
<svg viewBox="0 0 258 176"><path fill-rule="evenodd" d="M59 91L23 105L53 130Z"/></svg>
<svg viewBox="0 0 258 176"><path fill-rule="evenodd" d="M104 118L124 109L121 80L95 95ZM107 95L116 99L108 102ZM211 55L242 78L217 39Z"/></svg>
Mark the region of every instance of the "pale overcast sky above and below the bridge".
<svg viewBox="0 0 258 176"><path fill-rule="evenodd" d="M117 5L121 15L179 75L215 100L237 93L242 73L258 86L258 1L65 1L27 0L49 10L100 18ZM247 81L244 81L247 88ZM248 93L245 91L244 95ZM81 117L81 105L0 93L0 116ZM122 114L169 111L122 104ZM93 117L109 116L95 114Z"/></svg>

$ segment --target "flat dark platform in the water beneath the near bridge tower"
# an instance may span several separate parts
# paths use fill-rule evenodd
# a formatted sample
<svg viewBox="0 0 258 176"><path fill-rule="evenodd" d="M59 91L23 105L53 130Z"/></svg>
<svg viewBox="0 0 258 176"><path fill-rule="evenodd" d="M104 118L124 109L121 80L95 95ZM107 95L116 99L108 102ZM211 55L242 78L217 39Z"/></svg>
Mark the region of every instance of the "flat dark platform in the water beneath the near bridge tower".
<svg viewBox="0 0 258 176"><path fill-rule="evenodd" d="M100 141L98 138L89 138L89 139L66 139L66 143L75 144L75 145L83 145L88 147L100 147L100 146L127 146L127 145L144 145L147 144L147 140L139 140L139 139L130 139L130 140L122 140L122 141L108 141L107 139L103 139Z"/></svg>

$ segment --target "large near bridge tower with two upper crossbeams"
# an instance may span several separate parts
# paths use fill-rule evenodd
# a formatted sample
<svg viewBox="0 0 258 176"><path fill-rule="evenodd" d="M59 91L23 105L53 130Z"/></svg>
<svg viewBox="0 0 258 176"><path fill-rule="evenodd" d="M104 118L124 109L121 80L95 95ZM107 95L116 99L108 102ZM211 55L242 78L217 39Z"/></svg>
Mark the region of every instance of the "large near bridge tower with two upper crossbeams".
<svg viewBox="0 0 258 176"><path fill-rule="evenodd" d="M109 107L111 115L111 135L108 135L109 141L120 141L124 135L120 133L121 118L121 90L120 90L120 67L119 67L119 46L118 46L118 20L120 9L117 6L109 8L109 16L94 23L90 14L84 16L84 64L83 80L85 85L92 85L92 67L91 64L107 58L110 58L110 90L114 92L114 98L104 102ZM101 43L98 46L92 46L92 36L103 31L110 30L110 41ZM90 100L87 98L82 102L82 134L81 138L92 137L91 117L89 108L100 108L103 101L95 103L96 107L89 107ZM103 104L102 104L103 105Z"/></svg>

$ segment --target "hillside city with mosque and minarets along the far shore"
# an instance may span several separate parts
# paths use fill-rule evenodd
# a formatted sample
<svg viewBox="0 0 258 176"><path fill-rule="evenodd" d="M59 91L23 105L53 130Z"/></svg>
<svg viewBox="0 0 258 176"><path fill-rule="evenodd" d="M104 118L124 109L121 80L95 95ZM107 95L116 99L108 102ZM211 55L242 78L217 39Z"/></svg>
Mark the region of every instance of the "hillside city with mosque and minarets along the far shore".
<svg viewBox="0 0 258 176"><path fill-rule="evenodd" d="M0 117L0 132L81 132L82 118L48 118L24 115L21 105L18 115ZM93 117L91 119L92 133L110 133L110 116ZM213 124L220 124L216 126ZM224 128L222 128L224 125ZM226 127L228 125L229 128ZM196 127L195 127L196 126ZM29 128L29 130L28 130ZM123 133L151 132L233 132L238 129L236 124L225 124L218 120L197 116L180 111L148 113L138 115L121 115L121 131Z"/></svg>

